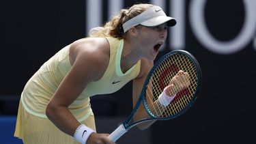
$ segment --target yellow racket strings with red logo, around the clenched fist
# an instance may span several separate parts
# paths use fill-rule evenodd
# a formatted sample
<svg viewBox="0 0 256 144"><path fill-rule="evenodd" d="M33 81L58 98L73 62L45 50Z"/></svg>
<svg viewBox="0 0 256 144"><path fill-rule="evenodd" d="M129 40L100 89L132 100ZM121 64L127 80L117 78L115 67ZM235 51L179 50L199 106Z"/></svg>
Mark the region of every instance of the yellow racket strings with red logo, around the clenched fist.
<svg viewBox="0 0 256 144"><path fill-rule="evenodd" d="M171 103L163 107L160 104L156 104L158 96L162 93L162 90L167 87L171 79L177 74L179 70L188 72L190 85L185 89L178 92ZM182 85L180 85L182 87ZM186 55L177 54L167 57L160 63L160 65L154 70L150 83L146 89L146 101L148 109L155 117L170 117L177 113L180 113L186 108L190 100L193 99L194 93L197 89L197 70L195 63L191 61ZM179 89L175 89L178 91Z"/></svg>

